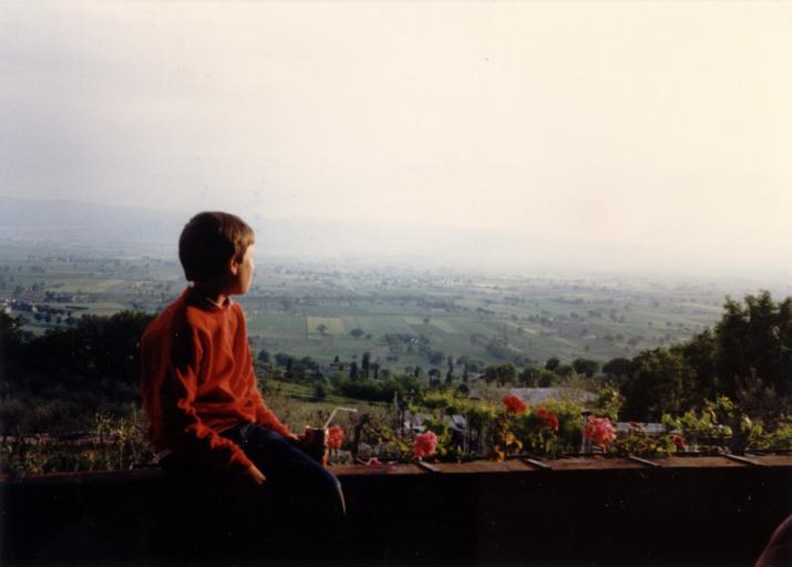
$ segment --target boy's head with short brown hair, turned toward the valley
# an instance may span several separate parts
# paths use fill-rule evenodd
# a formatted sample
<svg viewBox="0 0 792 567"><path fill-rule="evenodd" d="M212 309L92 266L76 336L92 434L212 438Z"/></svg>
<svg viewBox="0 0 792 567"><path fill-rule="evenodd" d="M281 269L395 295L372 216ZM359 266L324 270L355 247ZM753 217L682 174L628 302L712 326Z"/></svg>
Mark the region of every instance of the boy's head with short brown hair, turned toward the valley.
<svg viewBox="0 0 792 567"><path fill-rule="evenodd" d="M228 274L232 260L241 264L254 244L253 228L228 213L198 213L178 239L178 259L189 281L214 281Z"/></svg>

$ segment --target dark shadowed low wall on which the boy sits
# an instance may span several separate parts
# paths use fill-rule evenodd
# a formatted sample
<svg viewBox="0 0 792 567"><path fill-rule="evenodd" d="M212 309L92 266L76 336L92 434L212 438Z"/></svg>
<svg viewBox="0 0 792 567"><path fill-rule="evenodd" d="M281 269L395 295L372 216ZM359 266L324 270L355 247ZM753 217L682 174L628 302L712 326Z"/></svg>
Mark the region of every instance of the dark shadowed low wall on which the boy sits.
<svg viewBox="0 0 792 567"><path fill-rule="evenodd" d="M654 466L573 458L547 470L521 461L338 467L349 514L328 557L361 565L752 565L792 514L792 456L752 457L753 465L680 458ZM288 559L270 553L260 527L267 511L239 488L172 483L158 471L6 480L0 487L3 565ZM294 535L294 545L311 545L310 534Z"/></svg>

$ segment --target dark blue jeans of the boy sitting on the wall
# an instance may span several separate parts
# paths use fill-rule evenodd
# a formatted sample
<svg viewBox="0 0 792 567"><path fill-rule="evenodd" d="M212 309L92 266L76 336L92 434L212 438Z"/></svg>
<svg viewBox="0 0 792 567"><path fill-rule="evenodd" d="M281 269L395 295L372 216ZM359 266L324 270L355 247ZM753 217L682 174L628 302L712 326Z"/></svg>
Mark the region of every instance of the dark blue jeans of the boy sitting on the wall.
<svg viewBox="0 0 792 567"><path fill-rule="evenodd" d="M222 435L241 447L267 482L261 488L253 482L239 484L239 478L217 476L217 472L202 468L200 463L178 462L171 455L161 465L166 476L176 482L176 492L186 491L184 509L188 513L186 524L168 528L197 537L199 545L208 549L223 548L224 553L241 553L243 557L245 549L254 548L289 560L339 558L337 554L344 553L337 540L344 532L346 505L336 475L269 427L240 424ZM208 499L196 497L196 489ZM198 532L207 526L208 530ZM230 543L232 537L236 543ZM186 544L186 550L173 549L173 545L167 549L177 557L181 553L195 553L191 542Z"/></svg>

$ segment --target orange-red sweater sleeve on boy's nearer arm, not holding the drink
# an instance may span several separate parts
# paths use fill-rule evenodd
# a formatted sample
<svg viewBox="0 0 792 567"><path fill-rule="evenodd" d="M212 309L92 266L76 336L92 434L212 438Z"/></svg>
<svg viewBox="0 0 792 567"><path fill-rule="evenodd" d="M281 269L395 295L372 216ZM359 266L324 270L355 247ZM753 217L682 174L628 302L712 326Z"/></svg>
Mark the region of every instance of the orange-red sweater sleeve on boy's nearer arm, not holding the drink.
<svg viewBox="0 0 792 567"><path fill-rule="evenodd" d="M246 471L253 462L233 441L209 429L197 415L195 395L205 348L198 332L176 340L162 386L163 410L176 456L196 458L212 468Z"/></svg>

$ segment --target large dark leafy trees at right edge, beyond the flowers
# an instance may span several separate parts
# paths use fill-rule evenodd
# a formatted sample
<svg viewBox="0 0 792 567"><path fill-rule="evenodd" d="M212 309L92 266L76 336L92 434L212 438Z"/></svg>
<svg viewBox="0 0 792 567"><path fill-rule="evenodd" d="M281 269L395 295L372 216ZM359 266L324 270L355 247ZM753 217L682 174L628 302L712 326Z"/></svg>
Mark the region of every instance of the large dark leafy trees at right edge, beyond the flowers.
<svg viewBox="0 0 792 567"><path fill-rule="evenodd" d="M768 291L727 298L712 330L670 348L615 359L603 370L620 385L630 419L701 408L728 396L748 413L779 419L792 403L792 298L774 302Z"/></svg>

